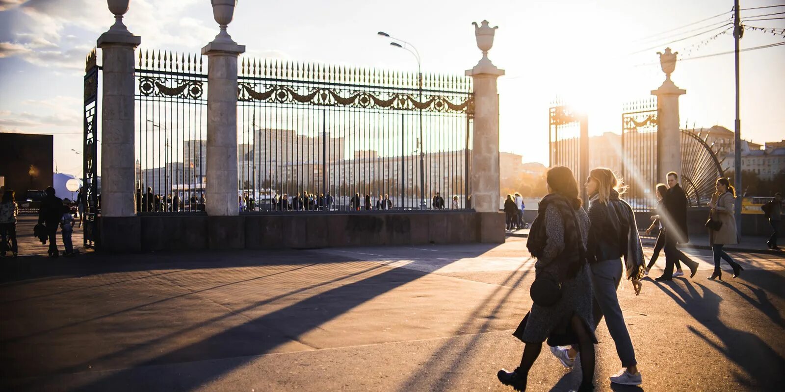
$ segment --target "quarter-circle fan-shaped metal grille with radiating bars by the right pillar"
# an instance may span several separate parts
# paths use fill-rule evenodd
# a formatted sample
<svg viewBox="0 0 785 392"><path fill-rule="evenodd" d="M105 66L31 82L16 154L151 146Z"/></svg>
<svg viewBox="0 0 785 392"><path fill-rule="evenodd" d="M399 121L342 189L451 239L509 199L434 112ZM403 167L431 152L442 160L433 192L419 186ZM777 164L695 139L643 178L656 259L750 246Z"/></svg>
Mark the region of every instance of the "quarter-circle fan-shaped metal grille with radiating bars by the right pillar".
<svg viewBox="0 0 785 392"><path fill-rule="evenodd" d="M690 207L709 204L714 194L714 182L725 176L717 152L707 143L703 129L681 130L681 186Z"/></svg>

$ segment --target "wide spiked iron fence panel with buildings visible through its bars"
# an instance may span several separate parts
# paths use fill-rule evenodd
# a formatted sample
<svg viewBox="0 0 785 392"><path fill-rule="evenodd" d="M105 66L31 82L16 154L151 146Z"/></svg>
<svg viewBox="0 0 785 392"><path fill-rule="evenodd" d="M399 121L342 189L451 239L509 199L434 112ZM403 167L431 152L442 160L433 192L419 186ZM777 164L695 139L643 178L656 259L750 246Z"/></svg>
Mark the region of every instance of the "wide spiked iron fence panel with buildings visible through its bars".
<svg viewBox="0 0 785 392"><path fill-rule="evenodd" d="M464 76L418 85L396 71L243 59L241 208L469 208L471 91Z"/></svg>

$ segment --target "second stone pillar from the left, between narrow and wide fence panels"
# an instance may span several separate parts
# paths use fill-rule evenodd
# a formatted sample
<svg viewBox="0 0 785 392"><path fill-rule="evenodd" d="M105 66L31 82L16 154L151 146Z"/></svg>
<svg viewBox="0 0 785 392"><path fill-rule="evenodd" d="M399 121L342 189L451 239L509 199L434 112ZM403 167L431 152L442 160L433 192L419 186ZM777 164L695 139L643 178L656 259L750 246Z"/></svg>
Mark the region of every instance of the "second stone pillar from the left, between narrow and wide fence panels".
<svg viewBox="0 0 785 392"><path fill-rule="evenodd" d="M235 0L214 0L213 16L221 32L202 48L207 56L206 210L210 216L236 216L237 199L237 45L226 32Z"/></svg>

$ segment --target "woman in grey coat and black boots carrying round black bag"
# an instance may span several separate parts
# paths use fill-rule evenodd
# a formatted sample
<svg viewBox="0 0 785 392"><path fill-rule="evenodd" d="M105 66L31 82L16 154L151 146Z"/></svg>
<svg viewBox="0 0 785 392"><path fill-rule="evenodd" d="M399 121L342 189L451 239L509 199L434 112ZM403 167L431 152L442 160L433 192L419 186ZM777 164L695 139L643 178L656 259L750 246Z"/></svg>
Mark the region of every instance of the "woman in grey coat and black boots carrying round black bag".
<svg viewBox="0 0 785 392"><path fill-rule="evenodd" d="M557 166L548 170L546 183L549 194L540 201L526 246L537 258L535 282L539 278L559 281L560 296L550 306L531 305L513 332L525 343L520 365L513 372L499 370L497 377L515 390L526 390L528 372L547 339L550 346L579 344L583 369L579 391L591 391L597 338L590 326L592 292L585 258L589 217L581 208L578 184L570 169Z"/></svg>

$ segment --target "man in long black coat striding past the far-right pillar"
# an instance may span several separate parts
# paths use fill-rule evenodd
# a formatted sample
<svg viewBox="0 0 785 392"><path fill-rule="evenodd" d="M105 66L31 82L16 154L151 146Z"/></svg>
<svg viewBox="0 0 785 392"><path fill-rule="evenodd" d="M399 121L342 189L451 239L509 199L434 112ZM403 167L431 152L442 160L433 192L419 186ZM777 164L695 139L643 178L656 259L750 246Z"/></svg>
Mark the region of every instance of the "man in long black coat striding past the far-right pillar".
<svg viewBox="0 0 785 392"><path fill-rule="evenodd" d="M668 173L668 192L663 200L665 213L660 215L665 227L665 272L655 281L671 281L674 277L674 263L680 260L689 267L690 278L698 272L698 263L690 260L677 244L689 241L687 232L687 195L679 186L679 175L676 172ZM678 276L678 275L677 275Z"/></svg>

